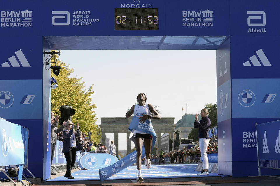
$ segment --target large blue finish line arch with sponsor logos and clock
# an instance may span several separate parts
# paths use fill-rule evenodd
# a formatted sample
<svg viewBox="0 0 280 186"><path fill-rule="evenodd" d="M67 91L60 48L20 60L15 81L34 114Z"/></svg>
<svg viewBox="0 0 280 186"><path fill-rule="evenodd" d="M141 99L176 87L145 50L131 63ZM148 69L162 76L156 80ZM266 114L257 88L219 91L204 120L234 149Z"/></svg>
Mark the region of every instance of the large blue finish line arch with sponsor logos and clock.
<svg viewBox="0 0 280 186"><path fill-rule="evenodd" d="M29 153L28 168L36 177L50 178L50 71L42 64L43 51L52 49L216 49L218 173L258 175L255 122L280 119L280 26L275 24L280 2L70 0L46 6L15 0L0 5L0 94L13 96L12 104L0 103L0 117L29 128L29 152L36 153Z"/></svg>

